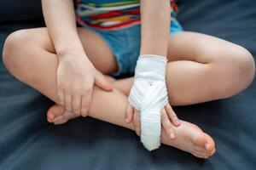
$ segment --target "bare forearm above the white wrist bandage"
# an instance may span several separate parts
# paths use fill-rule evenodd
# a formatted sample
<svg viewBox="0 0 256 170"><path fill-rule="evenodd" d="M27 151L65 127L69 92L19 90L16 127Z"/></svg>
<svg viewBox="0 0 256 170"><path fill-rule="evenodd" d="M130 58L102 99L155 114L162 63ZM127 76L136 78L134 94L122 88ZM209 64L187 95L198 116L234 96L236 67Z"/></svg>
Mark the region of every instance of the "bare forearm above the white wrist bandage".
<svg viewBox="0 0 256 170"><path fill-rule="evenodd" d="M169 41L171 7L168 0L142 0L141 54L166 56Z"/></svg>

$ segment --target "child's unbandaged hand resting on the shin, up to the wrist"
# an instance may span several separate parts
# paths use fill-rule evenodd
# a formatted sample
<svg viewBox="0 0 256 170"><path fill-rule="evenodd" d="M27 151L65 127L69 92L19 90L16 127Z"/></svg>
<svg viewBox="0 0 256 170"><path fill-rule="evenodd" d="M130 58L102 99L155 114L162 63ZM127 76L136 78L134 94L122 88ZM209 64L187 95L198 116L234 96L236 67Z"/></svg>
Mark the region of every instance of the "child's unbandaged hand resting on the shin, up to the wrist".
<svg viewBox="0 0 256 170"><path fill-rule="evenodd" d="M59 55L57 70L58 96L67 111L88 115L92 88L112 90L112 84L90 63L84 50L73 49Z"/></svg>

